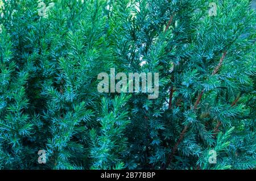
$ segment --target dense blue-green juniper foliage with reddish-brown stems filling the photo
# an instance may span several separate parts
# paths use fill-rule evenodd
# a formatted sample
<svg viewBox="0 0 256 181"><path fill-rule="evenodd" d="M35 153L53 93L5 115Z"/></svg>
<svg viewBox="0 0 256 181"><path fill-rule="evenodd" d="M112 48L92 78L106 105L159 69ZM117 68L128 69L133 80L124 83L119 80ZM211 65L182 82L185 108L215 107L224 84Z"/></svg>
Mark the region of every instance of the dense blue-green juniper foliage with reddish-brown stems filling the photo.
<svg viewBox="0 0 256 181"><path fill-rule="evenodd" d="M43 2L0 1L0 169L255 169L250 1ZM159 98L98 92L110 68Z"/></svg>

